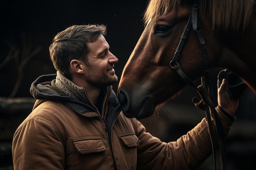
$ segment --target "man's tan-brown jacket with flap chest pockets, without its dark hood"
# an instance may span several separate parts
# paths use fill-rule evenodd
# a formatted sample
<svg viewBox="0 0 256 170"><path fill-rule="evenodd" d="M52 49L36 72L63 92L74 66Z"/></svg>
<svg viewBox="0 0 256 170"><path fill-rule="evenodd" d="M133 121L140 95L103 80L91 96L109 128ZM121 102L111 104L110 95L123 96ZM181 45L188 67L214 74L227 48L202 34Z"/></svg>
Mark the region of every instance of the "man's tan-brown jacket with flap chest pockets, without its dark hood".
<svg viewBox="0 0 256 170"><path fill-rule="evenodd" d="M114 92L106 121L89 106L66 100L36 100L13 137L14 170L186 170L211 155L206 119L167 144L119 113ZM227 135L232 121L216 110Z"/></svg>

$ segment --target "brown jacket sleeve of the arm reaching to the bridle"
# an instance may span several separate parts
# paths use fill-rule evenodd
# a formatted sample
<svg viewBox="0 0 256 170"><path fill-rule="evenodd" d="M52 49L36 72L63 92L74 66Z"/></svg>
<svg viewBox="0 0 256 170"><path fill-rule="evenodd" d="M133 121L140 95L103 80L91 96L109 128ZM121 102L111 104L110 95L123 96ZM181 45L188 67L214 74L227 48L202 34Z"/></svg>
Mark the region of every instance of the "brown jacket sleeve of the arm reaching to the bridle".
<svg viewBox="0 0 256 170"><path fill-rule="evenodd" d="M216 107L227 137L232 121ZM137 123L140 146L137 150L137 170L195 170L211 154L212 146L206 118L177 141L165 143L145 131ZM136 129L136 128L135 128Z"/></svg>

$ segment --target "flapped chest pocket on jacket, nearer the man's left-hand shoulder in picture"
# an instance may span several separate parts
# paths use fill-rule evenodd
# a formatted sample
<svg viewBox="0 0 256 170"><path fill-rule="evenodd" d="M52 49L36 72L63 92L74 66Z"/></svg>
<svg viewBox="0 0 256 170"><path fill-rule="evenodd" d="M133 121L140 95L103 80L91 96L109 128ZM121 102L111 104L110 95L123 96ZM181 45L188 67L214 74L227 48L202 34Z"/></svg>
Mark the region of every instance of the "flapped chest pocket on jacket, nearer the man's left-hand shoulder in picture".
<svg viewBox="0 0 256 170"><path fill-rule="evenodd" d="M103 152L106 150L105 145L100 136L85 136L73 138L76 150L80 154Z"/></svg>

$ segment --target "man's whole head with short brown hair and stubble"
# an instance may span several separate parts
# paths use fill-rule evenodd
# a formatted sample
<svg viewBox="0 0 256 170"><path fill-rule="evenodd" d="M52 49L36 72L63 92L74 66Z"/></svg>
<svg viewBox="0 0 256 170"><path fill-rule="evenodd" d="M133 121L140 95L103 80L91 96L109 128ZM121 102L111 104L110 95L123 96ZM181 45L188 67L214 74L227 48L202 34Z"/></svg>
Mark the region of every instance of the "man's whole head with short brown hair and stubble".
<svg viewBox="0 0 256 170"><path fill-rule="evenodd" d="M103 88L117 82L117 57L109 49L104 25L74 25L58 33L49 47L54 67L76 85Z"/></svg>

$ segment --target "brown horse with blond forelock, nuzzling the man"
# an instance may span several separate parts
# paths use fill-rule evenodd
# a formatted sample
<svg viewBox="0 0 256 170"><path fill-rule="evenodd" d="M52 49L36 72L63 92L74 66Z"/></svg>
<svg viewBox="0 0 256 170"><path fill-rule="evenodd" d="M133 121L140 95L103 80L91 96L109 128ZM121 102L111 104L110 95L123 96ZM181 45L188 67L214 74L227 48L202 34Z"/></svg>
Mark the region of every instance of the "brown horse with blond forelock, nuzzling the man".
<svg viewBox="0 0 256 170"><path fill-rule="evenodd" d="M150 117L181 93L188 82L174 66L193 82L211 70L227 68L256 94L256 1L198 0L198 13L191 17L194 3L149 1L143 15L144 31L124 66L117 90L126 117ZM184 35L190 29L185 27L188 20L193 21L194 31ZM179 42L182 50L177 47Z"/></svg>

